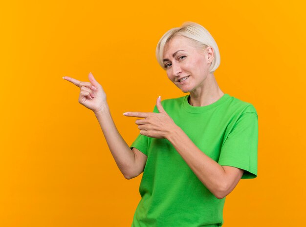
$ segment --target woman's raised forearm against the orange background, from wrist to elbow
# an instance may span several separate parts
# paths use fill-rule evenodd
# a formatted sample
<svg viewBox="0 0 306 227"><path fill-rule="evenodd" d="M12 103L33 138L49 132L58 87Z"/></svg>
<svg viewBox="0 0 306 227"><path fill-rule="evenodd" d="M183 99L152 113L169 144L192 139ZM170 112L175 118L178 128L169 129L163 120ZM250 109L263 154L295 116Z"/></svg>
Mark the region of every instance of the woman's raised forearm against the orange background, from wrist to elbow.
<svg viewBox="0 0 306 227"><path fill-rule="evenodd" d="M109 150L125 178L131 179L134 175L135 155L130 146L118 132L106 104L100 111L94 112L103 131Z"/></svg>

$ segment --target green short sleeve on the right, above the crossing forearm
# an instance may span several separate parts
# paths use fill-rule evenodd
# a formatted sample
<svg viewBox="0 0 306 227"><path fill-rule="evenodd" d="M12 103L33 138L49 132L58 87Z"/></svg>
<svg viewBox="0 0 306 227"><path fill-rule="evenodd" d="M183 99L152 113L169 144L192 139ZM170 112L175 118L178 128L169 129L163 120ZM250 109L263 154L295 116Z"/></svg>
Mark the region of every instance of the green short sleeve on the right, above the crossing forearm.
<svg viewBox="0 0 306 227"><path fill-rule="evenodd" d="M257 177L258 115L242 113L223 143L219 165L234 166L244 170L241 179Z"/></svg>

